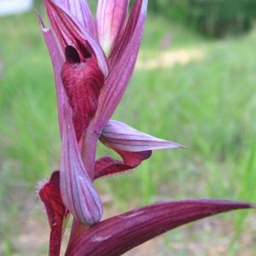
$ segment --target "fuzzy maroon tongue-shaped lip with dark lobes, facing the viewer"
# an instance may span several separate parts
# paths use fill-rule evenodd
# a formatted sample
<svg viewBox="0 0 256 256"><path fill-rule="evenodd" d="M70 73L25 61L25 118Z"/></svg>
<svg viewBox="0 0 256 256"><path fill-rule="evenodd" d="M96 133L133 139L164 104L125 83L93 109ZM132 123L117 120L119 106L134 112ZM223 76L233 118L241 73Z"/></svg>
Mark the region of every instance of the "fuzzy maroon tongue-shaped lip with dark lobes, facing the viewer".
<svg viewBox="0 0 256 256"><path fill-rule="evenodd" d="M79 43L81 44L81 43ZM79 45L82 52L73 46L65 49L67 61L61 69L61 79L66 91L69 106L73 109L73 125L79 142L84 131L90 125L96 109L98 98L104 84L104 75L96 60L90 45ZM84 57L85 61L81 62Z"/></svg>

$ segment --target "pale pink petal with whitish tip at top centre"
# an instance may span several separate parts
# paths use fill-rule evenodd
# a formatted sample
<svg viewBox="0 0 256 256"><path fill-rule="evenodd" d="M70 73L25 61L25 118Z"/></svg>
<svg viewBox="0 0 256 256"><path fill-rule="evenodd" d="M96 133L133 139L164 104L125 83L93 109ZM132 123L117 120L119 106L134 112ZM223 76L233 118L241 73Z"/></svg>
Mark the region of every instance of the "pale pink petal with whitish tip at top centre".
<svg viewBox="0 0 256 256"><path fill-rule="evenodd" d="M126 20L129 0L99 0L96 28L102 49L108 56Z"/></svg>

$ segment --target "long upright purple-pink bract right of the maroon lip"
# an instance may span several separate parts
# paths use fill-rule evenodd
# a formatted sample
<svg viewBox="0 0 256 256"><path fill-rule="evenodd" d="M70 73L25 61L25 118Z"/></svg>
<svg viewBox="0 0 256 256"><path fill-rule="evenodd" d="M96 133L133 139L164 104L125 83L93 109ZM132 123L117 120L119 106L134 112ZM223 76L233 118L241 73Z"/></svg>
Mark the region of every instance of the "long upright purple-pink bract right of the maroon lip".
<svg viewBox="0 0 256 256"><path fill-rule="evenodd" d="M105 85L102 88L101 95L99 97L99 106L96 111L96 118L93 128L96 132L102 132L104 126L111 118L115 108L117 108L122 96L125 93L125 89L137 60L138 49L141 44L143 36L144 20L147 13L148 0L136 0L131 11L128 24L125 28L124 34L128 35L124 45L122 42L114 51L114 60L111 61L111 56L108 61L111 61L108 79L105 81ZM133 28L134 27L134 28ZM132 31L130 32L130 29Z"/></svg>

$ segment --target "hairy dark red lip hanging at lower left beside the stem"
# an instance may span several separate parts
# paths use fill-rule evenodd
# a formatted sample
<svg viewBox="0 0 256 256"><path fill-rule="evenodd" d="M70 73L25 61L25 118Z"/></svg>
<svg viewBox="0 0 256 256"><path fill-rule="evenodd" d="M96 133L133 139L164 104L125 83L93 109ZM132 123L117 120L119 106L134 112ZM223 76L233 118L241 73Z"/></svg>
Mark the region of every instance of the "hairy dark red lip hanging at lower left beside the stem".
<svg viewBox="0 0 256 256"><path fill-rule="evenodd" d="M49 221L49 255L58 256L61 250L63 220L67 218L66 207L61 199L60 172L53 172L49 182L39 189L38 195L44 203Z"/></svg>

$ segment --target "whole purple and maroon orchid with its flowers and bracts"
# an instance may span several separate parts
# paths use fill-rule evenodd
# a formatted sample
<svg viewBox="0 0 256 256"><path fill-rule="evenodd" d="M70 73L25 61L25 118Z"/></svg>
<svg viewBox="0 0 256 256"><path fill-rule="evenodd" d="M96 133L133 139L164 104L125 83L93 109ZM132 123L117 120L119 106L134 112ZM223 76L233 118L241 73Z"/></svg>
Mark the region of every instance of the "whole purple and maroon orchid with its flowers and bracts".
<svg viewBox="0 0 256 256"><path fill-rule="evenodd" d="M253 207L230 201L168 202L99 223L102 202L93 185L97 177L135 168L154 149L184 148L110 120L135 67L148 1L135 0L129 15L129 0L99 0L95 20L85 0L44 3L50 27L44 26L39 14L38 20L54 67L61 133L60 171L42 183L38 192L51 227L50 255L60 253L70 213L74 219L67 255L119 255L212 212ZM109 156L96 160L97 141L112 148L122 160ZM181 213L178 218L177 212ZM155 229L162 218L160 230ZM117 224L115 230L113 223ZM137 225L135 236L141 236L137 241L129 231L133 223ZM117 243L119 236L128 242L126 247L122 241ZM96 249L99 243L101 251Z"/></svg>

